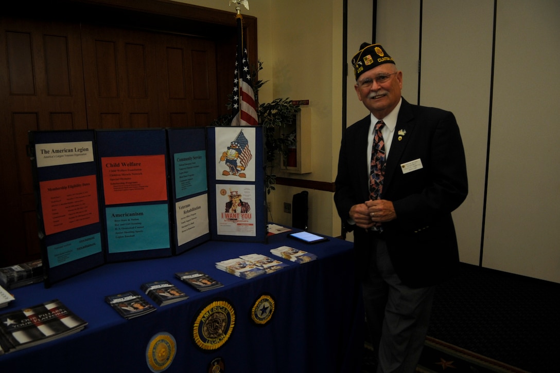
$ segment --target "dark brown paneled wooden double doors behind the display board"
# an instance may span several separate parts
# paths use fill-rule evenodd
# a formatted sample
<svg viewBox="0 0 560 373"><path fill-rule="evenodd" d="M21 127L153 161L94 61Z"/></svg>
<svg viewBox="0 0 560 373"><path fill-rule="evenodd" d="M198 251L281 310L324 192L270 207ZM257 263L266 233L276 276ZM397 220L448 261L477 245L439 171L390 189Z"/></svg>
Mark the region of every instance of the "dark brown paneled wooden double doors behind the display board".
<svg viewBox="0 0 560 373"><path fill-rule="evenodd" d="M227 110L232 30L0 18L0 267L40 256L28 131L207 126Z"/></svg>

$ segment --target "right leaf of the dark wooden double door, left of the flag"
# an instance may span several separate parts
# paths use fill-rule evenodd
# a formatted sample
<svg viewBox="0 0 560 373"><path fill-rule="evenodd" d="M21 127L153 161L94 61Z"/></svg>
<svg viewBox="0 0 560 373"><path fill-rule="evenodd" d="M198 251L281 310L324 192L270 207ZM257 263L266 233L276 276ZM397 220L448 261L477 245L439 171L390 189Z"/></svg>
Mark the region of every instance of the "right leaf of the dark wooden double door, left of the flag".
<svg viewBox="0 0 560 373"><path fill-rule="evenodd" d="M90 128L207 126L217 117L213 41L86 26L82 44Z"/></svg>

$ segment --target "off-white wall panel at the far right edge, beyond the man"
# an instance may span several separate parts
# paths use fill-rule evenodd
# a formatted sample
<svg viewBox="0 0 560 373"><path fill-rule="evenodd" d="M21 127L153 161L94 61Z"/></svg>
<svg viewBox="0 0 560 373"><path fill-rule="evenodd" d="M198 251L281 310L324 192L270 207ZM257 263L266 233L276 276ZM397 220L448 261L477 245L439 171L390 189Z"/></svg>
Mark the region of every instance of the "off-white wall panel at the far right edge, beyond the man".
<svg viewBox="0 0 560 373"><path fill-rule="evenodd" d="M560 282L560 2L498 1L483 266Z"/></svg>

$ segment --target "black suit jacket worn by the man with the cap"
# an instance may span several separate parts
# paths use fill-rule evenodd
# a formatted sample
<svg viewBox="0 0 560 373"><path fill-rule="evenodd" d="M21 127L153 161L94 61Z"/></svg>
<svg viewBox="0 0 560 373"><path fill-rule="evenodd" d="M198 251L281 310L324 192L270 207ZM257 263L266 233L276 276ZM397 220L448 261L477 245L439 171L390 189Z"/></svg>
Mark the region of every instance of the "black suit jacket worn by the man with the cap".
<svg viewBox="0 0 560 373"><path fill-rule="evenodd" d="M371 152L367 149L369 128L367 116L346 129L334 193L345 229L354 230L358 270L362 273L374 251L375 237L348 224L348 219L350 208L369 196L365 166L366 152ZM402 171L403 163L417 159L422 162L421 169ZM403 98L385 167L381 199L393 202L397 216L383 224L391 262L404 284L435 285L458 267L451 211L459 207L468 192L465 153L455 116L438 108L411 105Z"/></svg>

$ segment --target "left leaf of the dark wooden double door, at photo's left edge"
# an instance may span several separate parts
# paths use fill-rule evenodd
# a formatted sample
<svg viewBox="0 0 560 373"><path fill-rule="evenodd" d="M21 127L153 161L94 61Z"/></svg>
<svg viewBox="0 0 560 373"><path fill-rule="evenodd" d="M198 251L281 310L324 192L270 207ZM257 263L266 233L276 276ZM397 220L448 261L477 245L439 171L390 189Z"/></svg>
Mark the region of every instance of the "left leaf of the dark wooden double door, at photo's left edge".
<svg viewBox="0 0 560 373"><path fill-rule="evenodd" d="M27 131L87 124L79 27L1 18L0 46L0 266L6 266L40 253Z"/></svg>

